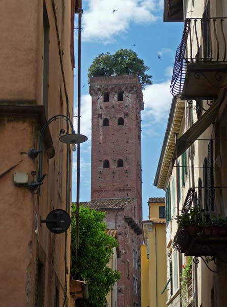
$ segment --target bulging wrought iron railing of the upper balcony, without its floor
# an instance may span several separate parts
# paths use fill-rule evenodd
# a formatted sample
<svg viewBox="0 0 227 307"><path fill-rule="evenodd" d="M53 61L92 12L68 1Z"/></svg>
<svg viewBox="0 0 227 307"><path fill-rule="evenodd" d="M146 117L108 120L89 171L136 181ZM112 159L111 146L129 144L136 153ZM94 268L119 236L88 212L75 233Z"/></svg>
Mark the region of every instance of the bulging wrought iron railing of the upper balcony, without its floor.
<svg viewBox="0 0 227 307"><path fill-rule="evenodd" d="M191 62L227 61L227 17L187 18L176 50L170 92L183 91L187 65Z"/></svg>

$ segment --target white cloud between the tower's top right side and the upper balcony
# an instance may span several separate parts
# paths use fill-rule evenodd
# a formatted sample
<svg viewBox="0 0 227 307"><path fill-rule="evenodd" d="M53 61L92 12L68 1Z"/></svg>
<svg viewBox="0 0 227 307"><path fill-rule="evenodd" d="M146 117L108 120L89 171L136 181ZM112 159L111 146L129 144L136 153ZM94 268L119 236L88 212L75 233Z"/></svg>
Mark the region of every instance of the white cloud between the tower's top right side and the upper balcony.
<svg viewBox="0 0 227 307"><path fill-rule="evenodd" d="M145 123L152 125L166 121L172 102L169 86L170 80L167 80L148 85L143 91L145 110L142 112L142 118Z"/></svg>

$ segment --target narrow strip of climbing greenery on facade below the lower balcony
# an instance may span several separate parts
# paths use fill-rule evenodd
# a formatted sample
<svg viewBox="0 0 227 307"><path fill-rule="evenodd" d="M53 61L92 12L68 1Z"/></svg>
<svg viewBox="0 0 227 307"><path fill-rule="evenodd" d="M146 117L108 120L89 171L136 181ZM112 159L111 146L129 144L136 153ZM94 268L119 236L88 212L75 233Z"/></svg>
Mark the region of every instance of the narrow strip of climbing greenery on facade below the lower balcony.
<svg viewBox="0 0 227 307"><path fill-rule="evenodd" d="M192 278L192 257L189 257L188 263L183 266L183 272L180 275L180 297L182 306L188 306L188 282Z"/></svg>

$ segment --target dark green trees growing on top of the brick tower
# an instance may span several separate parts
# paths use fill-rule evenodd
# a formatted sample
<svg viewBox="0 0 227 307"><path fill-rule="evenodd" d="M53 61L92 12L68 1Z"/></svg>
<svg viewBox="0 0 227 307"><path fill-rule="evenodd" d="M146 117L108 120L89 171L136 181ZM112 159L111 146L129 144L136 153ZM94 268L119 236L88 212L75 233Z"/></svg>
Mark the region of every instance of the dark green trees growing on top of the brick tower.
<svg viewBox="0 0 227 307"><path fill-rule="evenodd" d="M94 58L88 69L88 78L120 75L137 75L142 88L152 84L152 76L146 74L149 70L133 50L121 49L111 55L109 52L101 53Z"/></svg>

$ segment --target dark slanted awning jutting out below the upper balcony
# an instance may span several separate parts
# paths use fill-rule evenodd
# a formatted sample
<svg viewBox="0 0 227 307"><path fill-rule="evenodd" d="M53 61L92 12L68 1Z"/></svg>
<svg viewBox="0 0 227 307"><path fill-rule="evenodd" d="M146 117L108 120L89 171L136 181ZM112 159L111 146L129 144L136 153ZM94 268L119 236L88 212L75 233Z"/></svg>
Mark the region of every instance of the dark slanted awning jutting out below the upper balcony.
<svg viewBox="0 0 227 307"><path fill-rule="evenodd" d="M180 138L176 140L176 150L174 160L182 155L185 150L191 146L195 140L214 122L218 109L226 97L226 91L223 95L194 123Z"/></svg>

